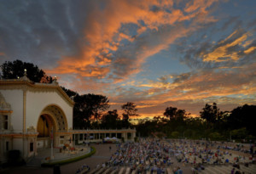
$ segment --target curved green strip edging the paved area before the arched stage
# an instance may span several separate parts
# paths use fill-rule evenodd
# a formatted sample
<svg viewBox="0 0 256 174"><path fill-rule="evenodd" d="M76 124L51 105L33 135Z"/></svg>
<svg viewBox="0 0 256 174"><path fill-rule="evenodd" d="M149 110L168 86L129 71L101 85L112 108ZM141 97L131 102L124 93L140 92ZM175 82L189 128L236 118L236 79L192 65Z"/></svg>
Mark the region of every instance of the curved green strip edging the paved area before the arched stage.
<svg viewBox="0 0 256 174"><path fill-rule="evenodd" d="M75 157L73 159L68 159L68 160L60 160L60 161L56 161L56 162L43 163L41 166L46 166L46 167L55 166L55 165L60 165L61 166L61 165L66 165L68 163L72 163L72 162L75 162L75 161L78 161L78 160L82 160L82 159L90 157L92 154L96 153L95 147L90 147L90 148L91 148L91 151L90 151L89 154L84 154L82 156L78 156L78 157Z"/></svg>

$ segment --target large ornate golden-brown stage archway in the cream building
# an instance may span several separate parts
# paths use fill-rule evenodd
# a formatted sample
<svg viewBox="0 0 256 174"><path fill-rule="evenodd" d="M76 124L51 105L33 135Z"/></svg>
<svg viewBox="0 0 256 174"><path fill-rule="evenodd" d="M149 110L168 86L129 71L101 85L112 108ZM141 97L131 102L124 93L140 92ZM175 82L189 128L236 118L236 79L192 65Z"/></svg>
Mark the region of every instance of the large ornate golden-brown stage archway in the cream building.
<svg viewBox="0 0 256 174"><path fill-rule="evenodd" d="M65 143L65 132L67 132L67 119L63 110L50 104L45 107L38 117L38 149L49 148L51 141L54 146L60 146Z"/></svg>

